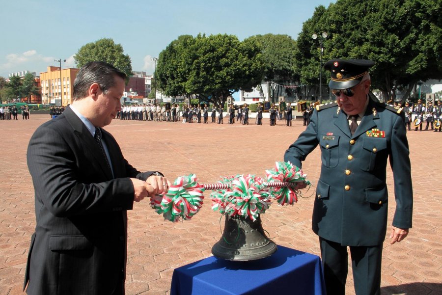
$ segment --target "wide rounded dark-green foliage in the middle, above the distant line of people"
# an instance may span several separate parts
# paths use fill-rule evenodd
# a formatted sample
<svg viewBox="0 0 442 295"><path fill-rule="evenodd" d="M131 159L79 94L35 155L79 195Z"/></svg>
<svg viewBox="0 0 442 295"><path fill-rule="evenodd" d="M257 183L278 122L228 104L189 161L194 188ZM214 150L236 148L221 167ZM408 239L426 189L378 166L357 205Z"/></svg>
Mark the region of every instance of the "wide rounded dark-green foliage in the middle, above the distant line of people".
<svg viewBox="0 0 442 295"><path fill-rule="evenodd" d="M240 89L249 90L263 78L261 47L234 35L184 35L160 53L157 79L166 95L195 94L202 101L224 105Z"/></svg>

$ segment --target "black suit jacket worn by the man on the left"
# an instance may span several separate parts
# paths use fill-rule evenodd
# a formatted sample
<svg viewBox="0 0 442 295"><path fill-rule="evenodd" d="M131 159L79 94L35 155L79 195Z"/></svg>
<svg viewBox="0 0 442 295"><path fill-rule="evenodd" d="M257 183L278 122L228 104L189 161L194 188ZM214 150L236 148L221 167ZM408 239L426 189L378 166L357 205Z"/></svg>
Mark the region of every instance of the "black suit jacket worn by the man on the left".
<svg viewBox="0 0 442 295"><path fill-rule="evenodd" d="M25 286L28 294L111 294L124 286L130 177L146 180L106 131L114 177L92 135L67 107L32 135L28 168L35 189L36 228ZM124 292L124 291L123 291Z"/></svg>

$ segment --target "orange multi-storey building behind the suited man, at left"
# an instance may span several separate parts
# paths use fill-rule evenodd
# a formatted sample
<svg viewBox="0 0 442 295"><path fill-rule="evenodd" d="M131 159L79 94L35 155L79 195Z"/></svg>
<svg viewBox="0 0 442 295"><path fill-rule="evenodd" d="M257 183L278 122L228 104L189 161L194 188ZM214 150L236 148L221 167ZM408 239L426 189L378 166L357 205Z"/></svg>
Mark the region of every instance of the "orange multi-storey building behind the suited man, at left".
<svg viewBox="0 0 442 295"><path fill-rule="evenodd" d="M69 105L78 71L77 68L49 66L47 72L40 73L42 104Z"/></svg>

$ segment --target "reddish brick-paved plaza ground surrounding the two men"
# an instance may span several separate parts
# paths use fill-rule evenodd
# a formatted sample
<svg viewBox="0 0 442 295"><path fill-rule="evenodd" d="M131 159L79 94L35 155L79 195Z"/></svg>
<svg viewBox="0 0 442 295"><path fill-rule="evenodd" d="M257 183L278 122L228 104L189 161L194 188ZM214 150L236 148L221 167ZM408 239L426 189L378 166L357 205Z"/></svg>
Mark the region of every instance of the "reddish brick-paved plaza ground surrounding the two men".
<svg viewBox="0 0 442 295"><path fill-rule="evenodd" d="M23 294L29 241L35 227L26 150L30 136L47 120L49 115L31 113L30 120L0 121L0 295ZM138 170L162 171L172 182L177 176L195 173L200 183L213 183L223 175L265 176L264 171L282 160L286 148L305 128L302 121L294 121L290 128L284 121L276 126L269 126L268 119L264 119L264 126L250 121L250 125L218 125L114 120L105 129ZM442 133L412 131L408 138L414 227L404 241L384 243L382 294L442 295ZM304 173L313 184L318 180L320 161L317 148L304 162ZM387 185L391 225L395 202L389 167ZM150 208L148 199L128 212L128 295L169 294L174 268L211 256L224 220L211 211L209 193L205 193L201 211L189 221L165 221ZM293 207L273 204L263 215L263 226L277 244L319 255L318 238L310 228L314 187L305 191L304 197ZM390 227L387 236L389 232ZM351 271L347 294L355 294Z"/></svg>

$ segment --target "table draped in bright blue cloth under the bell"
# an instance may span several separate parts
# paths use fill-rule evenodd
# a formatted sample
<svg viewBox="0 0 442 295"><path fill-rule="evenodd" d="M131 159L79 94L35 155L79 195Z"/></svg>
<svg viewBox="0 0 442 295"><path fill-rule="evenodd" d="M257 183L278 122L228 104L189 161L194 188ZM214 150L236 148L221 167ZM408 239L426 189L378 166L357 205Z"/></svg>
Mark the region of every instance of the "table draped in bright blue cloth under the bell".
<svg viewBox="0 0 442 295"><path fill-rule="evenodd" d="M175 268L170 295L322 295L318 256L278 246L270 257L240 262L214 256Z"/></svg>

